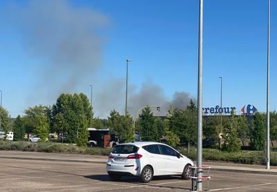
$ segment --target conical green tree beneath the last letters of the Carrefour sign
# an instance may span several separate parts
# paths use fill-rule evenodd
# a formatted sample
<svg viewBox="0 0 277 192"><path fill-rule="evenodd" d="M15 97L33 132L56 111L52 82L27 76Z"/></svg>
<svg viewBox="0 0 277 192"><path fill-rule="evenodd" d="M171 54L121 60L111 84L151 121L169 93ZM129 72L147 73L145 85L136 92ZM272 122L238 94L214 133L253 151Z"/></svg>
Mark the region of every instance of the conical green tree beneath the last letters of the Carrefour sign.
<svg viewBox="0 0 277 192"><path fill-rule="evenodd" d="M238 118L231 115L229 124L224 128L222 151L238 152L240 151L240 142L238 141Z"/></svg>

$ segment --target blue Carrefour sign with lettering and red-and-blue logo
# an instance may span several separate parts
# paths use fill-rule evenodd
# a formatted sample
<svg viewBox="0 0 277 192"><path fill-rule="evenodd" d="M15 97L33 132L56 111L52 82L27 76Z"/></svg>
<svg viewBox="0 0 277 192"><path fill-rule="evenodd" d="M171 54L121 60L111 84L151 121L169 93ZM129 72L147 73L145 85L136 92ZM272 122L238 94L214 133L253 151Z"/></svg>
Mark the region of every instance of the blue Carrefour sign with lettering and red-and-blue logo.
<svg viewBox="0 0 277 192"><path fill-rule="evenodd" d="M222 115L230 115L232 111L236 111L236 108L233 107L220 107L220 106L215 106L215 107L205 107L202 108L203 114L204 115L217 115L217 114L222 114ZM244 105L240 111L242 112L242 115L253 115L257 111L256 107L248 104Z"/></svg>

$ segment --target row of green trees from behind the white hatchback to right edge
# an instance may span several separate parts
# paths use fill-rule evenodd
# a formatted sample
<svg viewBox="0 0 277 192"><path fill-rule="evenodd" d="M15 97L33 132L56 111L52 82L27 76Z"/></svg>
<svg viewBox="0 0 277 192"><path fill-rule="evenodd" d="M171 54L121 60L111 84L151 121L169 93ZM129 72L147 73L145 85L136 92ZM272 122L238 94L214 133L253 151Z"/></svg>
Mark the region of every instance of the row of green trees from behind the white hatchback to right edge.
<svg viewBox="0 0 277 192"><path fill-rule="evenodd" d="M139 119L136 119L136 128L132 126L132 117L119 115L112 111L108 119L108 126L120 135L120 142L133 140L132 133L139 131L143 141L164 140L171 146L197 144L197 108L190 101L186 110L174 109L168 112L165 119L154 117L150 108L143 109ZM277 140L277 113L270 113L271 145ZM126 119L129 119L129 124ZM265 113L256 113L253 116L234 115L222 117L222 151L239 151L242 146L249 146L254 150L265 148ZM117 119L116 121L114 119ZM124 120L123 120L124 119ZM220 146L220 116L204 117L203 140L204 146Z"/></svg>

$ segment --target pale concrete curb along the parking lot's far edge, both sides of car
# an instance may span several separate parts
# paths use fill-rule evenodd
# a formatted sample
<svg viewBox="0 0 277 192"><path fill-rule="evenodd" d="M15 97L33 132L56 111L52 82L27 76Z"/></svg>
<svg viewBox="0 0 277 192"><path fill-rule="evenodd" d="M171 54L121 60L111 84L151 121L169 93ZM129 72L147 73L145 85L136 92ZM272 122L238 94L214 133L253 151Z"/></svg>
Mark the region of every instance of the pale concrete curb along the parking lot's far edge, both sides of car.
<svg viewBox="0 0 277 192"><path fill-rule="evenodd" d="M15 160L38 160L38 161L52 161L52 162L82 162L82 163L97 163L97 164L106 164L106 161L93 161L93 160L62 160L62 159L53 159L53 158L42 158L42 157L11 157L11 156L0 156L0 159L15 159ZM231 166L230 166L231 167ZM262 174L262 175L277 175L276 171L265 171L265 170L247 170L247 169L226 169L222 168L213 168L212 171L221 171L221 172L231 172L231 173L253 173L253 174Z"/></svg>

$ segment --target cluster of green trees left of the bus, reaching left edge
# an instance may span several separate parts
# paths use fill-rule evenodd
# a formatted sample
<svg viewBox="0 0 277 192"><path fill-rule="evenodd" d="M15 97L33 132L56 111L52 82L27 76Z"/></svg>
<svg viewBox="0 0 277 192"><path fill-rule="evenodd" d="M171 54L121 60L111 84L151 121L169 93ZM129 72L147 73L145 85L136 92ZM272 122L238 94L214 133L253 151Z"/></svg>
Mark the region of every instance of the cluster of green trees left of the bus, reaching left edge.
<svg viewBox="0 0 277 192"><path fill-rule="evenodd" d="M86 95L62 94L56 104L34 106L24 111L24 116L17 116L9 124L8 111L1 108L3 131L14 132L14 140L24 140L25 133L38 135L42 142L49 133L68 133L66 140L80 146L87 145L89 121L93 117L92 108Z"/></svg>

